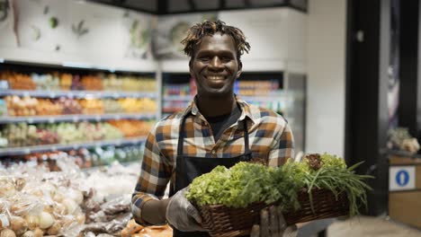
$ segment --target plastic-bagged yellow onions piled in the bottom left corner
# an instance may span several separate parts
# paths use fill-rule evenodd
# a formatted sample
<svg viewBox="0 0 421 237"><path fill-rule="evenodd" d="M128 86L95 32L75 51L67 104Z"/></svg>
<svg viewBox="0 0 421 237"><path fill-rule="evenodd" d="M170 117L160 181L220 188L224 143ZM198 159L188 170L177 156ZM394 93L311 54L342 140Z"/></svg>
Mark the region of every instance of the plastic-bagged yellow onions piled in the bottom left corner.
<svg viewBox="0 0 421 237"><path fill-rule="evenodd" d="M0 236L77 236L85 223L75 173L42 169L0 176Z"/></svg>

